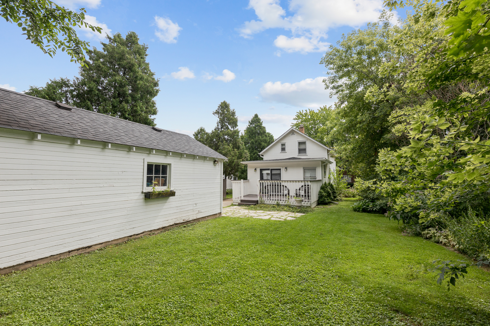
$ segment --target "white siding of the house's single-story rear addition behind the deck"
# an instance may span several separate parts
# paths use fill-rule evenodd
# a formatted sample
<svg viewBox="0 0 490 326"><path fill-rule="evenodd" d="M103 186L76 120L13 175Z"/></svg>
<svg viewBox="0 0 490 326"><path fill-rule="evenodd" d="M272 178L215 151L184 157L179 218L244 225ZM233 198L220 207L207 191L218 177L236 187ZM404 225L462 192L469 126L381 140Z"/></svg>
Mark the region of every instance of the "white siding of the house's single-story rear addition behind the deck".
<svg viewBox="0 0 490 326"><path fill-rule="evenodd" d="M308 162L269 162L265 163L250 163L248 164L248 193L251 195L257 195L257 181L260 178L260 169L274 169L281 168L281 179L282 180L303 180L303 168L317 168L317 179L321 179L321 169L320 169L320 161L308 161ZM253 170L257 168L257 172ZM288 171L284 171L284 168L288 168Z"/></svg>

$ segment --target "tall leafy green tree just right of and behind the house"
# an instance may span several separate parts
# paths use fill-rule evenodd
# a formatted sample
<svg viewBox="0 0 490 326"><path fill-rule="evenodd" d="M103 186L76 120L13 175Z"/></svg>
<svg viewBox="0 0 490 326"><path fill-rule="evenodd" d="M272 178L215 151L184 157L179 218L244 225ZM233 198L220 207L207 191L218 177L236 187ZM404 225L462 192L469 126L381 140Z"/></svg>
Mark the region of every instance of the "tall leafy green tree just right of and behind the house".
<svg viewBox="0 0 490 326"><path fill-rule="evenodd" d="M335 141L330 145L335 147L339 163L358 176L375 176L379 149L397 147L389 117L399 99L365 97L370 87L396 82L397 76L378 74L379 66L393 57L390 39L399 28L390 19L383 12L379 22L344 35L320 62L328 69L325 88L331 90L330 96L337 97L333 117L328 117L334 131L330 139ZM325 143L321 138L327 130L317 140Z"/></svg>

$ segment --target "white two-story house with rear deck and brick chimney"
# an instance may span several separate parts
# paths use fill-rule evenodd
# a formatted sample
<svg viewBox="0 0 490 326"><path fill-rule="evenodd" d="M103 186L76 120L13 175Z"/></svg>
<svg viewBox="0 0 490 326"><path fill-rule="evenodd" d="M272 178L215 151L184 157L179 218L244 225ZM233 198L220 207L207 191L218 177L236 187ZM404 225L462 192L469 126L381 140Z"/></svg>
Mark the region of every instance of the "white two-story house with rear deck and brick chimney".
<svg viewBox="0 0 490 326"><path fill-rule="evenodd" d="M304 133L304 127L290 128L265 150L261 161L242 162L248 166L248 180L232 181L235 204L294 203L315 207L318 191L335 171L332 150Z"/></svg>

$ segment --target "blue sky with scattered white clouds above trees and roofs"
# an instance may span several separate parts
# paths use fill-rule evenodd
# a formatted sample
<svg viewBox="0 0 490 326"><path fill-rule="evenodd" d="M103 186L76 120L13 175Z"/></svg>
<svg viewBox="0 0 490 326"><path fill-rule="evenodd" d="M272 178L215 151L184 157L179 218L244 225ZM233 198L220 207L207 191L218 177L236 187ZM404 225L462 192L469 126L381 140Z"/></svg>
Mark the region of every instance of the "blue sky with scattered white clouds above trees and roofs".
<svg viewBox="0 0 490 326"><path fill-rule="evenodd" d="M275 137L300 109L331 105L319 65L330 43L377 20L382 0L58 0L85 7L104 32L135 31L148 44L147 61L160 79L157 126L191 134L211 130L221 101L230 103L239 128L258 113ZM59 52L54 58L25 40L15 24L0 22L0 87L24 91L78 73ZM100 48L100 35L78 35ZM104 33L105 35L105 33Z"/></svg>

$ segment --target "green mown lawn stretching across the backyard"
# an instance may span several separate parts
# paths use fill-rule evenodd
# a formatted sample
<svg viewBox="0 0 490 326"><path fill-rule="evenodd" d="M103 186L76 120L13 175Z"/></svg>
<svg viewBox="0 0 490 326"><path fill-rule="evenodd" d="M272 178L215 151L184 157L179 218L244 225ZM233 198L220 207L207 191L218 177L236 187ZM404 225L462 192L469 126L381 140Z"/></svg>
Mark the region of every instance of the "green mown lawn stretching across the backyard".
<svg viewBox="0 0 490 326"><path fill-rule="evenodd" d="M220 217L0 277L0 325L490 325L490 273L353 199L292 221Z"/></svg>

